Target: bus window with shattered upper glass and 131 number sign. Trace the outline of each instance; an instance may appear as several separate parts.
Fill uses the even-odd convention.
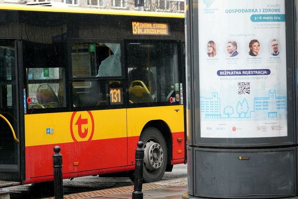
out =
[[[120,55],[120,43],[72,43],[74,107],[123,104],[122,80],[107,79],[121,76]]]

